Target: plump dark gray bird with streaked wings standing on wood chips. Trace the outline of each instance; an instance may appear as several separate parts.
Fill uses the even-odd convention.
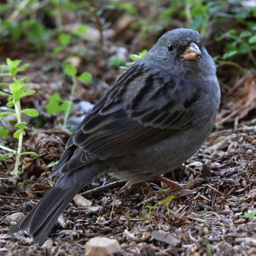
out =
[[[29,230],[42,244],[69,201],[104,173],[138,182],[180,166],[210,134],[219,100],[198,32],[168,31],[83,119],[53,171],[59,180],[9,234]]]

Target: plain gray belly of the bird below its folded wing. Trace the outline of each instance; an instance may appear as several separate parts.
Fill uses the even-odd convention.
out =
[[[202,146],[211,127],[194,127],[166,140],[116,158],[111,165],[113,175],[131,181],[146,181],[182,165]],[[113,159],[112,159],[113,160]]]

